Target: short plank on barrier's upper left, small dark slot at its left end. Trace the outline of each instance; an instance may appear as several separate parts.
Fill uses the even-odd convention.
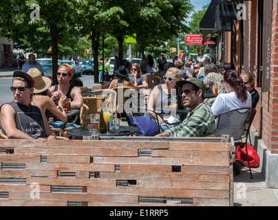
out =
[[[47,155],[47,163],[89,164],[89,156],[77,155]]]

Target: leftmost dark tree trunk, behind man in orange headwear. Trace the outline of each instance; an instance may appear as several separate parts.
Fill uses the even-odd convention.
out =
[[[52,43],[52,78],[53,85],[58,83],[56,72],[58,70],[58,30],[56,24],[52,24],[50,28],[51,43]]]

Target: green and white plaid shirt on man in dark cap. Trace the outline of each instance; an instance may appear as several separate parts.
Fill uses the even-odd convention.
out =
[[[215,118],[205,102],[191,111],[178,126],[166,130],[170,137],[204,137],[215,131]]]

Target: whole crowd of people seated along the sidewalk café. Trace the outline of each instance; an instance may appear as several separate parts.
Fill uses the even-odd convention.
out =
[[[71,83],[74,71],[70,65],[58,67],[58,84],[51,85],[51,80],[43,76],[31,56],[29,60],[28,68],[23,65],[22,71],[13,74],[13,100],[1,106],[1,130],[8,138],[55,139],[52,128],[61,129],[67,123],[64,109],[66,98],[70,98],[72,109],[83,106],[81,89]],[[100,66],[105,62],[107,67],[108,62],[103,58],[99,58],[98,62]],[[149,88],[146,78],[142,76],[157,72],[162,72],[163,77],[159,84]],[[100,69],[99,77],[103,78],[103,69]],[[253,74],[239,74],[227,63],[215,65],[202,49],[198,50],[196,62],[184,57],[173,57],[171,62],[167,62],[164,54],[160,54],[155,62],[151,54],[140,64],[124,61],[121,65],[118,61],[113,80],[103,85],[103,88],[112,89],[118,85],[144,89],[143,94],[148,96],[146,105],[149,115],[155,118],[153,112],[159,113],[162,132],[157,136],[209,135],[215,131],[217,115],[231,109],[255,108],[259,101]],[[207,92],[215,93],[216,97],[204,98]],[[190,110],[180,122],[163,109],[175,103],[178,95],[182,98],[182,107]],[[47,111],[54,115],[52,122],[47,122]]]

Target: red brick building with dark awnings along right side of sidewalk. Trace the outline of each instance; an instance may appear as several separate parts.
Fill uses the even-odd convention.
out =
[[[200,32],[205,41],[215,41],[217,64],[232,63],[237,72],[255,76],[260,100],[251,137],[266,184],[277,188],[278,0],[212,0]]]

